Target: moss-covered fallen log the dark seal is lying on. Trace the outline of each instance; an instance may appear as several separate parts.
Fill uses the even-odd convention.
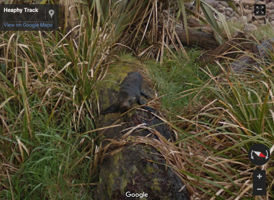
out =
[[[108,70],[105,80],[110,82],[98,84],[96,87],[97,93],[100,94],[97,104],[100,110],[116,101],[119,83],[128,72],[135,70],[138,69],[121,65]],[[142,83],[142,90],[151,97],[154,96],[146,81]],[[148,102],[148,99],[143,96],[142,98]],[[94,112],[98,116],[98,110]],[[127,192],[127,195],[147,194],[143,199],[150,200],[190,199],[183,180],[169,167],[166,168],[166,160],[160,151],[149,143],[149,139],[172,139],[169,127],[163,121],[144,109],[136,108],[121,116],[120,113],[100,115],[95,121],[96,128],[112,126],[101,131],[98,137],[100,149],[105,149],[105,152],[99,150],[96,155],[104,154],[98,164],[99,181],[94,194],[95,200],[140,199],[127,197]],[[148,142],[138,143],[140,137],[147,137]]]

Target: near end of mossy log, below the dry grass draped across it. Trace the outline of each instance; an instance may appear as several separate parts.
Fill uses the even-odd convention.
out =
[[[151,146],[126,146],[106,159],[100,166],[100,181],[94,199],[139,199],[127,197],[129,191],[131,194],[145,193],[147,197],[143,199],[149,200],[189,200],[186,188],[178,192],[183,187],[182,181],[170,168],[165,170],[158,153]]]

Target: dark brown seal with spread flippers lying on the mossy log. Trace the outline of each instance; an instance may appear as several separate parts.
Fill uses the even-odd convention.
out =
[[[103,110],[101,114],[105,115],[108,113],[117,113],[119,111],[124,113],[131,109],[134,103],[138,103],[139,105],[146,104],[141,99],[141,94],[146,97],[149,96],[141,91],[142,81],[143,78],[139,72],[129,72],[126,78],[121,82],[117,103]],[[150,107],[144,106],[144,108],[152,112]]]

